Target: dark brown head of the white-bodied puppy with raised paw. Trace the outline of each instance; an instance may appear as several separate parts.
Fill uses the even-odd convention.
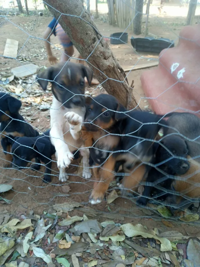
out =
[[[52,66],[37,75],[38,83],[46,90],[48,81],[52,93],[66,108],[84,106],[85,79],[91,85],[93,71],[82,64],[63,62]]]

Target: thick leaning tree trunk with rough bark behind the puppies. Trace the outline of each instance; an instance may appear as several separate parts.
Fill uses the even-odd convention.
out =
[[[81,1],[46,0],[46,3],[56,19],[59,18],[60,13],[69,14],[69,16],[59,18],[61,27],[70,37],[81,56],[88,58],[89,66],[107,93],[115,96],[121,104],[126,106],[130,87],[125,82],[125,73],[90,15],[87,11],[83,11]],[[81,15],[83,19],[79,18],[81,12],[83,12]],[[137,102],[133,94],[131,98],[131,108],[134,108],[137,106]]]

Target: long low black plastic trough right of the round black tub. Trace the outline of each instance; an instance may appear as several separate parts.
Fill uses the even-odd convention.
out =
[[[155,39],[153,37],[131,37],[131,45],[137,51],[160,53],[165,48],[174,47],[174,41],[167,38]]]

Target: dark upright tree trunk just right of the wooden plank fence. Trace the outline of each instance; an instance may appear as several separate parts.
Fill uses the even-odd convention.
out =
[[[144,0],[135,0],[135,19],[133,21],[133,32],[136,35],[142,32],[142,13]]]

